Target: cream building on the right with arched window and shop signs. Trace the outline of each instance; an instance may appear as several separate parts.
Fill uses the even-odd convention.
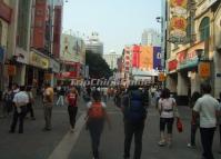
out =
[[[175,1],[174,1],[175,3]],[[172,36],[173,30],[168,30],[167,38],[167,87],[177,93],[178,102],[188,105],[189,98],[194,91],[200,91],[200,83],[209,81],[212,86],[212,95],[218,98],[220,88],[220,60],[219,58],[219,22],[215,17],[220,10],[219,0],[182,0],[184,6],[183,19],[179,29],[183,29],[185,36],[178,38]],[[180,3],[179,3],[180,4]],[[168,28],[174,24],[175,4],[169,4]],[[217,19],[219,21],[219,18]],[[217,28],[217,30],[215,30]],[[180,36],[180,34],[179,34]],[[217,38],[215,38],[217,37]],[[215,49],[217,48],[217,49]],[[203,68],[203,70],[202,70]]]

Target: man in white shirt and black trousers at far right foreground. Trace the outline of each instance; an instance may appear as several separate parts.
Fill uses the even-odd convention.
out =
[[[217,127],[217,117],[219,113],[219,102],[211,92],[211,86],[207,82],[201,85],[202,97],[199,98],[193,107],[193,116],[200,117],[200,133],[203,147],[203,158],[214,159],[212,155],[212,142]]]

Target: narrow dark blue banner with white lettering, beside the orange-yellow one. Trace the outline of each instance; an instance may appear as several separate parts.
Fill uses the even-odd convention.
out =
[[[153,69],[162,70],[161,64],[161,47],[153,47]]]

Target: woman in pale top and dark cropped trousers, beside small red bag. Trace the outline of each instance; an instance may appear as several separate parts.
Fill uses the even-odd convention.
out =
[[[160,147],[168,145],[172,146],[172,127],[174,118],[179,119],[177,102],[174,98],[170,97],[170,90],[164,88],[161,92],[161,97],[158,102],[158,109],[160,113]],[[168,136],[165,139],[165,127],[168,129]]]

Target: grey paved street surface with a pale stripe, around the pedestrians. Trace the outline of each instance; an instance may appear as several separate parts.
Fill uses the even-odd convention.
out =
[[[113,128],[111,131],[104,129],[101,141],[101,157],[102,159],[122,159],[122,115],[112,102],[109,102],[108,106]],[[184,123],[184,132],[178,133],[174,129],[173,147],[171,149],[158,147],[159,116],[154,108],[149,109],[143,135],[142,159],[200,159],[199,132],[197,149],[187,148],[190,133],[190,111],[187,107],[180,107],[179,109]],[[44,120],[40,100],[34,107],[37,120],[26,119],[23,135],[8,133],[11,118],[0,119],[0,159],[91,159],[89,132],[84,129],[84,103],[81,101],[74,133],[69,132],[67,107],[54,107],[52,131],[41,131]],[[215,159],[220,159],[217,133],[213,151]]]

